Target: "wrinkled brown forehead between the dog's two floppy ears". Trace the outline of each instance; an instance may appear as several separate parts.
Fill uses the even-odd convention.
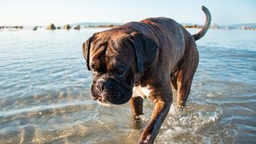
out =
[[[98,71],[108,71],[113,66],[127,64],[129,48],[127,34],[102,32],[94,36],[90,45],[90,67]],[[131,58],[130,58],[131,59]]]

